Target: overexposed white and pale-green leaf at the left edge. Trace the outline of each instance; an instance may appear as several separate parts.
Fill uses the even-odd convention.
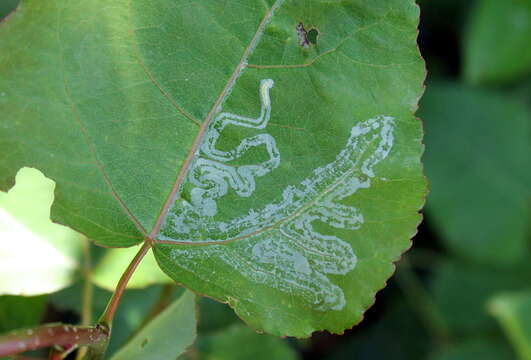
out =
[[[60,290],[77,275],[83,238],[50,221],[53,181],[23,168],[16,182],[0,193],[0,294]]]

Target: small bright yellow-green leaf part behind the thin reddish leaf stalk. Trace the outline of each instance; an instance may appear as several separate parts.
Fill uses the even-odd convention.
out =
[[[137,252],[138,246],[127,249],[107,250],[105,255],[103,255],[94,267],[91,280],[99,287],[114,291],[118,280],[120,280],[120,276]],[[153,257],[153,253],[149,252],[133,273],[133,276],[127,283],[127,288],[140,289],[149,285],[167,283],[173,283],[173,280],[160,270]]]

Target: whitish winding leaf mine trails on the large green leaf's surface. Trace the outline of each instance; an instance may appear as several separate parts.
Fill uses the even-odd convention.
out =
[[[211,281],[208,272],[198,274],[194,265],[215,258],[253,282],[303,298],[315,309],[341,310],[345,306],[343,291],[326,274],[348,273],[356,266],[356,255],[350,244],[316,228],[319,223],[348,230],[362,226],[360,211],[340,201],[370,187],[374,166],[393,146],[394,118],[380,115],[356,124],[333,162],[315,169],[300,184],[286,187],[280,199],[228,221],[216,220],[218,199],[230,190],[251,196],[255,179],[280,164],[279,150],[269,134],[245,138],[231,151],[216,148],[228,124],[254,129],[267,126],[272,86],[271,79],[260,84],[258,118],[230,113],[215,118],[187,175],[192,184],[191,201],[182,197],[175,201],[158,238],[181,244],[208,243],[175,246],[171,251],[180,267],[205,281]],[[267,149],[267,161],[239,167],[226,164],[260,145]]]

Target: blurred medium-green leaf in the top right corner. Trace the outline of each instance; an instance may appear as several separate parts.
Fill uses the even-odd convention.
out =
[[[502,83],[531,72],[531,1],[479,0],[465,36],[465,77]]]

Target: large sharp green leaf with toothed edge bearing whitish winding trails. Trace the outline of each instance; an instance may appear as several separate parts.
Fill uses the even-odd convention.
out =
[[[38,167],[54,220],[106,246],[152,238],[168,275],[257,329],[341,333],[420,221],[418,16],[26,0],[0,27],[0,188]]]

